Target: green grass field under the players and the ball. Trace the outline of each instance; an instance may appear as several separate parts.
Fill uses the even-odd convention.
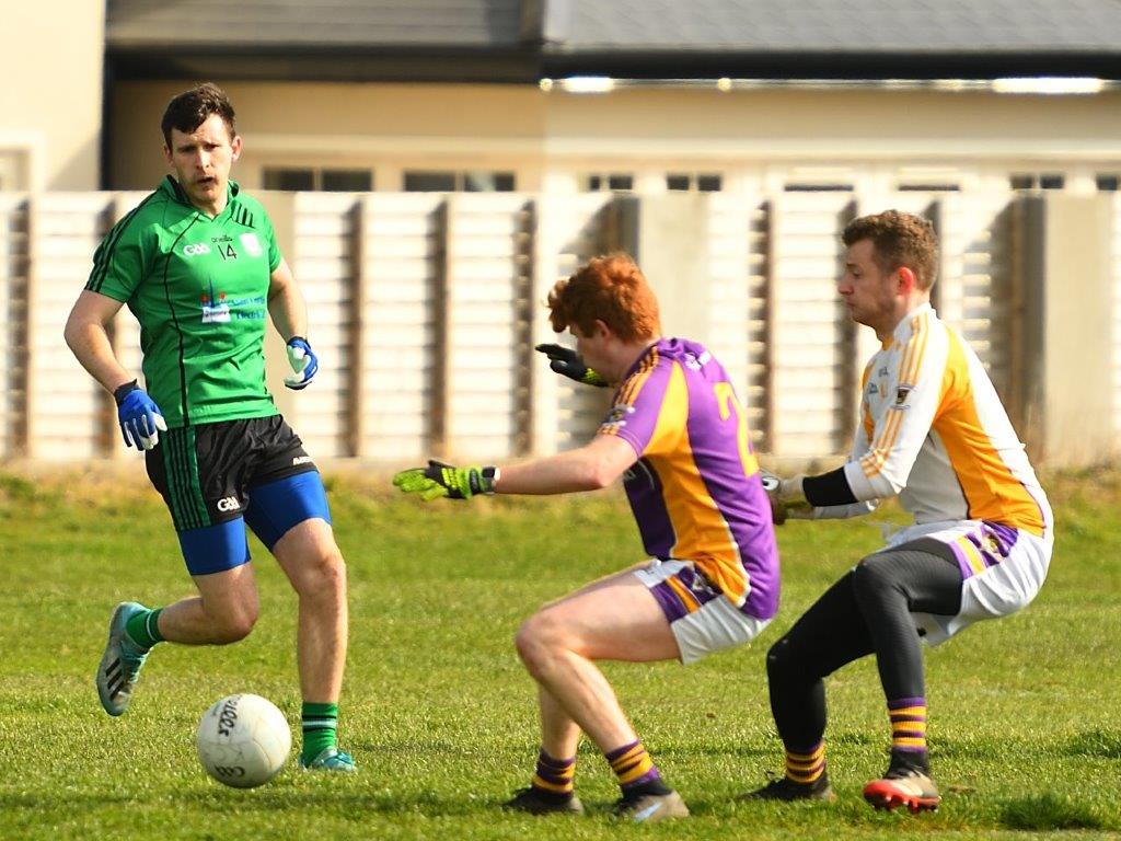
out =
[[[608,665],[624,708],[694,816],[631,826],[606,814],[610,771],[584,746],[585,819],[509,815],[537,750],[535,692],[511,644],[543,601],[641,560],[617,491],[421,506],[330,482],[350,566],[343,745],[361,773],[293,767],[256,791],[212,783],[198,717],[257,692],[298,726],[295,601],[253,544],[261,617],[228,648],[161,646],[132,709],[110,719],[92,676],[112,607],[186,594],[168,518],[140,481],[0,474],[0,838],[1011,838],[1121,832],[1121,478],[1051,477],[1058,546],[1039,599],[929,653],[937,813],[876,813],[886,765],[871,660],[828,682],[835,804],[733,801],[780,764],[763,657],[879,532],[860,521],[780,529],[782,607],[758,644],[696,666]],[[378,486],[385,487],[385,486]],[[373,489],[371,489],[373,488]],[[898,519],[898,514],[895,515]],[[1062,834],[1067,834],[1062,832]]]

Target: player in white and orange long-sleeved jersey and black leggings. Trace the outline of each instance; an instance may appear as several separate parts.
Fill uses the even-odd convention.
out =
[[[862,558],[771,647],[771,708],[787,774],[753,796],[832,796],[822,678],[874,654],[891,763],[864,796],[877,807],[935,808],[919,637],[936,645],[1028,604],[1047,575],[1054,523],[981,361],[930,307],[937,240],[929,223],[887,211],[854,220],[843,240],[837,292],[881,349],[864,369],[849,460],[821,475],[776,478],[772,512],[776,523],[853,517],[898,495],[915,523]]]

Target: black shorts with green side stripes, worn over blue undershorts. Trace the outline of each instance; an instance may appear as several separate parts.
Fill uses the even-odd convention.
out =
[[[316,469],[280,415],[168,429],[145,463],[176,532],[237,519],[253,488]]]

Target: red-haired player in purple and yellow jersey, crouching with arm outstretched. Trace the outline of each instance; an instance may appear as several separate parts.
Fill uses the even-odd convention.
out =
[[[539,345],[555,371],[615,386],[614,406],[584,446],[518,464],[429,462],[393,478],[423,499],[568,493],[623,478],[648,555],[638,567],[549,602],[518,630],[537,681],[541,750],[530,785],[507,806],[582,812],[581,734],[614,770],[615,812],[638,822],[684,817],[599,660],[692,663],[754,639],[778,606],[771,505],[724,369],[700,344],[663,339],[658,301],[634,262],[600,257],[549,294],[549,321],[576,349]]]

